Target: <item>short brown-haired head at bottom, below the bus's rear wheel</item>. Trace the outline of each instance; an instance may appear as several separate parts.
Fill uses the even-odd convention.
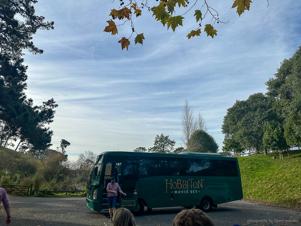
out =
[[[214,226],[209,216],[200,209],[184,209],[172,222],[173,226]]]

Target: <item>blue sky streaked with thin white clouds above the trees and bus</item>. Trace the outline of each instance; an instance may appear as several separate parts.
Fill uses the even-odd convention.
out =
[[[214,24],[218,32],[213,39],[203,32],[209,17],[201,36],[186,37],[198,26],[193,10],[203,5],[199,0],[175,33],[144,8],[133,18],[135,31],[144,33],[143,46],[135,45],[133,36],[128,51],[121,50],[118,40],[131,35],[129,22],[118,26],[115,36],[103,32],[119,1],[35,4],[37,15],[54,21],[54,30],[38,30],[33,36],[43,54],[24,51],[26,95],[36,105],[51,98],[59,105],[49,125],[54,132],[51,148],[65,139],[71,143],[69,159],[76,160],[88,150],[149,148],[161,133],[176,141],[175,148],[184,146],[181,114],[188,99],[221,151],[227,108],[253,93],[265,93],[265,82],[301,44],[301,2],[270,0],[267,7],[267,1],[254,0],[240,17],[231,0],[206,2],[220,20],[229,20]]]

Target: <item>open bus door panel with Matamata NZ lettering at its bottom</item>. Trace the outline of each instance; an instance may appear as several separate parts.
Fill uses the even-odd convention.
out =
[[[138,207],[138,163],[121,164],[120,175],[121,190],[126,196],[121,196],[121,206],[129,210],[137,210]]]

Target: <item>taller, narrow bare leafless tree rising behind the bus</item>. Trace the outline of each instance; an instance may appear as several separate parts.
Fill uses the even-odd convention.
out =
[[[193,119],[193,112],[190,109],[190,105],[188,100],[185,100],[185,105],[182,109],[182,137],[181,140],[184,143],[186,150],[190,151],[190,137],[194,132],[194,119]]]

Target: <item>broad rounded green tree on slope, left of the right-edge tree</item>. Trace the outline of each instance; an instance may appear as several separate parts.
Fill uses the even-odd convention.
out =
[[[267,121],[276,118],[272,106],[273,99],[262,93],[255,93],[245,101],[236,101],[224,117],[222,133],[225,139],[234,139],[244,149],[262,150],[264,127]]]

